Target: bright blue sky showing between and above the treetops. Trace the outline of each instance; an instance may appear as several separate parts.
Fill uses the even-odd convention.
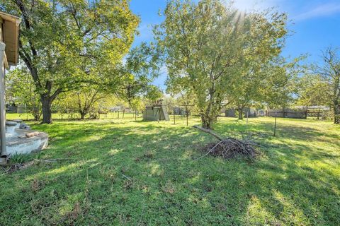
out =
[[[235,0],[234,5],[243,11],[275,7],[288,13],[292,20],[288,28],[293,32],[283,49],[285,57],[309,54],[307,62],[317,63],[322,49],[340,47],[340,0]],[[166,0],[131,0],[132,11],[141,18],[135,44],[152,39],[150,25],[162,22],[158,12],[165,6]],[[165,79],[163,73],[154,84],[164,89]]]

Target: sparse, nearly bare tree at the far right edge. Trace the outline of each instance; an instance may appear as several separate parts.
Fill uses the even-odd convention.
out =
[[[315,73],[327,83],[327,95],[334,112],[334,124],[340,124],[340,58],[339,49],[329,47],[322,54],[323,64],[315,67]]]

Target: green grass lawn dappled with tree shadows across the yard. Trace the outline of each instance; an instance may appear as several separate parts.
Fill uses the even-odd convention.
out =
[[[198,124],[191,119],[189,124]],[[208,134],[132,119],[32,124],[37,164],[0,170],[0,225],[340,225],[340,126],[278,119],[254,162],[200,157]],[[272,133],[273,118],[219,118],[217,133]]]

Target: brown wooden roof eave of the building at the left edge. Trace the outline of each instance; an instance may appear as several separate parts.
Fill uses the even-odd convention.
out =
[[[21,18],[0,11],[0,18],[4,24],[4,39],[6,44],[6,59],[9,65],[18,64],[18,42],[19,42],[19,24]]]

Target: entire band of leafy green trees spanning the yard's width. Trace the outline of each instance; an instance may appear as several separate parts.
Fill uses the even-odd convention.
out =
[[[224,107],[327,105],[339,124],[340,60],[329,48],[318,65],[286,59],[287,15],[244,13],[222,0],[171,0],[152,43],[132,48],[140,19],[127,0],[8,0],[2,11],[21,16],[21,66],[7,76],[7,93],[29,103],[42,123],[52,104],[77,106],[81,119],[99,102],[142,108],[162,93],[152,85],[166,66],[166,92],[195,105],[212,129]],[[112,102],[112,101],[111,101]],[[115,101],[117,102],[117,101]],[[190,104],[189,104],[190,103]],[[307,114],[307,113],[306,113]]]

